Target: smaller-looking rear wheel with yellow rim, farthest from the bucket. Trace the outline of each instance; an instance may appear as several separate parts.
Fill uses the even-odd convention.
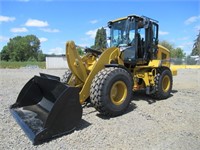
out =
[[[160,68],[157,72],[154,79],[156,91],[151,96],[158,100],[166,99],[172,91],[172,73],[168,68]]]

